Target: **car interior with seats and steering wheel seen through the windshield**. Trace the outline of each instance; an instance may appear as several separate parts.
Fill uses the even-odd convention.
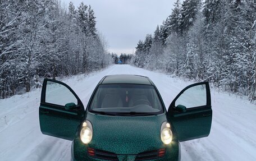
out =
[[[161,111],[156,91],[150,85],[100,85],[91,103],[92,109],[122,108],[149,112]],[[154,110],[154,109],[157,109]],[[102,110],[100,110],[102,111]]]

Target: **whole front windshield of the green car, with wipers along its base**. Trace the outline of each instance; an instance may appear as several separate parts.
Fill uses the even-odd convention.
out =
[[[152,85],[102,84],[90,104],[90,112],[115,115],[151,115],[163,112]]]

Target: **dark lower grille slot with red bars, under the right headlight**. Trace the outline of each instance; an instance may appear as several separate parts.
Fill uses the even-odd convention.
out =
[[[158,149],[152,151],[145,151],[136,155],[136,160],[150,160],[164,157],[166,149]]]

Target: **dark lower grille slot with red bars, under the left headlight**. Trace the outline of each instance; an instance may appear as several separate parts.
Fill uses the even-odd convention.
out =
[[[99,150],[94,148],[87,148],[87,154],[93,158],[118,161],[117,155],[109,151],[104,151],[104,150]]]

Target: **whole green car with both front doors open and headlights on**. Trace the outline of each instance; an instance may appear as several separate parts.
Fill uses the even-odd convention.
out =
[[[206,137],[212,107],[208,82],[183,89],[168,111],[153,82],[104,76],[86,108],[68,85],[44,79],[43,134],[71,140],[71,160],[180,160],[180,142]]]

